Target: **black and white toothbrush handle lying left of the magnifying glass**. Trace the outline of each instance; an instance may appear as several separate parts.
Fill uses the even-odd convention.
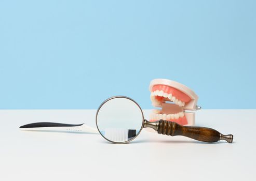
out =
[[[22,131],[64,131],[64,132],[81,132],[81,133],[94,133],[99,134],[99,131],[95,128],[83,124],[63,124],[63,123],[51,123],[51,122],[39,122],[31,123],[20,126]]]

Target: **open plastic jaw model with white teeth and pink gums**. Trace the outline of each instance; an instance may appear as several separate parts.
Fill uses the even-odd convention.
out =
[[[155,109],[150,121],[164,119],[180,125],[195,125],[195,113],[186,110],[199,110],[198,96],[187,86],[168,79],[154,79],[150,82],[150,98]]]

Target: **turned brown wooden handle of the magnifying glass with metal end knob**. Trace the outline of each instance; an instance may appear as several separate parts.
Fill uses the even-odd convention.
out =
[[[219,131],[205,127],[182,126],[175,122],[167,120],[159,120],[158,130],[159,134],[166,135],[183,135],[184,137],[192,138],[194,140],[204,142],[217,142],[219,140],[226,140],[232,143],[233,135],[223,135]]]

